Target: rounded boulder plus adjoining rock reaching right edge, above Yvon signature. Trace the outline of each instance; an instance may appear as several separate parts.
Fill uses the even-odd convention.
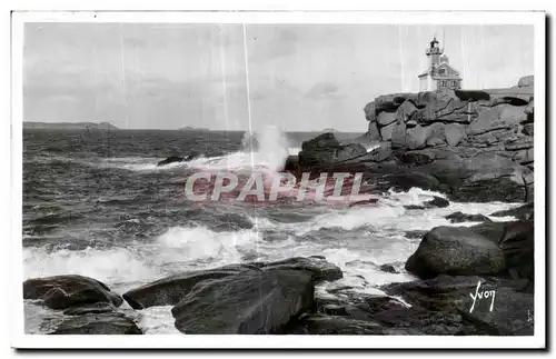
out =
[[[465,216],[456,212],[448,218],[467,219]],[[473,219],[486,218],[479,216]],[[439,275],[498,276],[523,280],[524,287],[532,288],[534,247],[532,219],[486,221],[473,227],[436,227],[423,236],[419,247],[406,262],[406,270],[424,279]]]

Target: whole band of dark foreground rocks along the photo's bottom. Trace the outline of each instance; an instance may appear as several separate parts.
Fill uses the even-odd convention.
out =
[[[513,213],[523,219],[426,232],[405,265],[417,279],[381,286],[383,296],[317,291],[344,275],[314,256],[189,271],[121,296],[82,276],[29,279],[23,298],[63,313],[51,335],[140,335],[133,309],[172,306],[176,328],[188,335],[530,336],[533,208]],[[119,308],[123,301],[133,309]]]

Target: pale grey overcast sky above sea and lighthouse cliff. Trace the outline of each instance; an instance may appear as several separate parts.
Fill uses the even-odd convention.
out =
[[[252,128],[364,132],[379,94],[418,91],[433,36],[464,88],[534,73],[533,26],[247,26]],[[24,121],[249,128],[239,24],[27,23]]]

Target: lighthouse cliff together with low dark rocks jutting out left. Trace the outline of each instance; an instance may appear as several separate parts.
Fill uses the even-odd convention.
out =
[[[438,190],[458,201],[530,201],[532,83],[527,77],[507,89],[380,96],[365,107],[369,127],[360,139],[378,142],[375,149],[325,133],[304,142],[286,170],[364,171],[374,183]]]

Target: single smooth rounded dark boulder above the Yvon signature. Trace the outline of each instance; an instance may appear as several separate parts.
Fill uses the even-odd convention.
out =
[[[497,275],[505,269],[502,249],[465,227],[434,228],[406,262],[406,270],[420,278]]]

